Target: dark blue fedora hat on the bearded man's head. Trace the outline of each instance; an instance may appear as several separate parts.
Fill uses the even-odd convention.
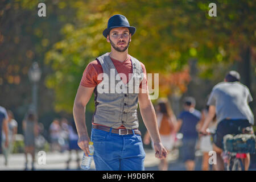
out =
[[[106,28],[103,31],[103,35],[105,36],[105,38],[107,37],[107,35],[109,34],[109,32],[112,28],[118,28],[118,27],[127,27],[127,28],[129,28],[131,35],[133,35],[136,31],[135,27],[130,26],[130,24],[129,24],[129,22],[128,22],[128,20],[125,16],[123,16],[123,15],[114,15],[114,16],[111,16],[109,18],[108,28]]]

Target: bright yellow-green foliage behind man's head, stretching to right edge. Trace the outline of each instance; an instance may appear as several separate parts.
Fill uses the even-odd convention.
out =
[[[47,53],[55,70],[47,86],[56,92],[56,109],[71,112],[76,89],[86,65],[110,51],[102,31],[114,14],[123,14],[137,32],[129,53],[141,60],[148,73],[163,77],[186,75],[188,60],[196,58],[200,75],[214,78],[217,65],[243,60],[241,47],[255,47],[255,3],[215,1],[217,17],[208,15],[211,1],[76,1],[76,21],[61,30],[64,39]],[[64,2],[63,2],[64,3]],[[177,73],[176,73],[177,72]],[[179,75],[179,74],[178,74]],[[168,78],[166,79],[168,81]],[[170,80],[170,79],[169,79]],[[184,77],[184,80],[189,80]],[[186,85],[186,81],[181,83]],[[172,82],[167,82],[172,85]],[[179,85],[179,84],[178,84]],[[170,88],[172,88],[171,86]],[[163,90],[171,90],[168,88]],[[181,86],[184,89],[184,85]]]

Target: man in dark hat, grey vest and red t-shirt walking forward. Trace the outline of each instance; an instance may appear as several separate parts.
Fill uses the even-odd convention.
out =
[[[154,142],[155,156],[164,159],[167,151],[160,142],[156,114],[150,101],[144,65],[128,54],[131,27],[123,15],[114,15],[103,32],[111,52],[97,57],[86,67],[77,90],[73,115],[79,147],[89,154],[90,138],[85,125],[85,107],[94,93],[92,118],[96,170],[144,170],[145,152],[138,130],[139,108]]]

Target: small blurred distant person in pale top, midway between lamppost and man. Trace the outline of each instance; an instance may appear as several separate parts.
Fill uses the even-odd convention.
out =
[[[60,121],[59,119],[55,118],[51,125],[49,126],[49,134],[51,138],[51,151],[59,151],[59,137],[60,137]]]

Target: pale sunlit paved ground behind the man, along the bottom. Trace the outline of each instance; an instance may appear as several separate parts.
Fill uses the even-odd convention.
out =
[[[145,149],[146,152],[146,158],[144,161],[144,166],[146,171],[158,171],[158,164],[159,160],[155,158],[155,152],[153,150],[148,150]],[[38,153],[37,153],[38,154]],[[185,165],[184,163],[180,162],[178,160],[178,155],[179,152],[177,150],[171,152],[168,155],[168,163],[169,171],[184,171],[185,170]],[[79,152],[80,159],[82,158],[82,151]],[[63,153],[60,152],[48,152],[46,153],[46,164],[39,164],[39,155],[37,156],[36,163],[35,163],[35,168],[36,170],[67,170],[67,164],[66,161],[69,158],[69,152],[65,151]],[[81,170],[77,168],[77,163],[76,163],[76,153],[72,152],[72,162],[69,164],[69,170]],[[255,160],[255,159],[253,159]],[[28,157],[28,161],[31,162],[31,157]],[[4,165],[4,158],[3,155],[0,155],[0,171],[5,171],[5,170],[23,170],[24,169],[24,163],[25,163],[25,158],[24,154],[12,154],[10,155],[9,158],[9,164],[7,166]],[[196,171],[201,170],[201,155],[200,152],[196,155]],[[81,163],[81,160],[80,160]],[[28,168],[31,168],[30,163],[28,163]],[[91,170],[95,170],[95,165],[94,162],[92,162],[92,168]],[[256,171],[256,165],[254,163],[254,166],[250,167],[251,171]]]

